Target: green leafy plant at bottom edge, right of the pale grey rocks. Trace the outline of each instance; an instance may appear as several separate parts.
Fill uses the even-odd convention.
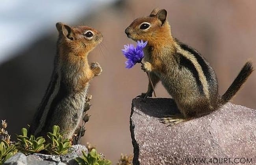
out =
[[[95,149],[92,149],[89,154],[86,154],[84,151],[82,152],[82,157],[75,158],[79,165],[111,165],[111,161],[102,158]]]

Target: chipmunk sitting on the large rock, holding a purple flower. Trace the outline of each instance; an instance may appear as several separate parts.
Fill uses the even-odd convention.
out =
[[[215,111],[237,93],[253,71],[252,63],[245,63],[228,90],[219,96],[213,68],[197,50],[172,36],[165,9],[156,8],[149,16],[135,19],[125,33],[134,41],[148,41],[141,69],[150,74],[154,86],[161,80],[180,111],[160,119],[169,126]],[[148,91],[140,97],[151,96],[148,84]]]

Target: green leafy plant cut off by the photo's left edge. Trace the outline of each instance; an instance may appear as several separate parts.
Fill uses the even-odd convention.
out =
[[[14,154],[16,154],[17,149],[15,145],[8,144],[5,140],[1,140],[0,142],[0,164],[4,163],[7,159],[11,158]]]

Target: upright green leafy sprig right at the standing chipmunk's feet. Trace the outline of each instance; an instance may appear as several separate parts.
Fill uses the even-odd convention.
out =
[[[69,139],[63,139],[63,133],[59,132],[59,126],[52,127],[52,133],[48,132],[47,137],[49,138],[49,144],[46,148],[46,151],[49,154],[54,155],[64,155],[69,152],[71,148],[71,143]]]

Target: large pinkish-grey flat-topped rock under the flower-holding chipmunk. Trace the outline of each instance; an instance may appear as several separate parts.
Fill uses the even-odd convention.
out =
[[[256,110],[227,103],[217,111],[167,127],[177,112],[169,98],[135,98],[130,131],[133,164],[256,163]]]

